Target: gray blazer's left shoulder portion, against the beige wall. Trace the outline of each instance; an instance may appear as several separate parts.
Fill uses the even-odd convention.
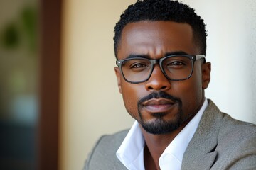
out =
[[[85,170],[126,169],[117,159],[116,152],[128,131],[122,130],[113,135],[103,135],[100,137],[85,162]]]

